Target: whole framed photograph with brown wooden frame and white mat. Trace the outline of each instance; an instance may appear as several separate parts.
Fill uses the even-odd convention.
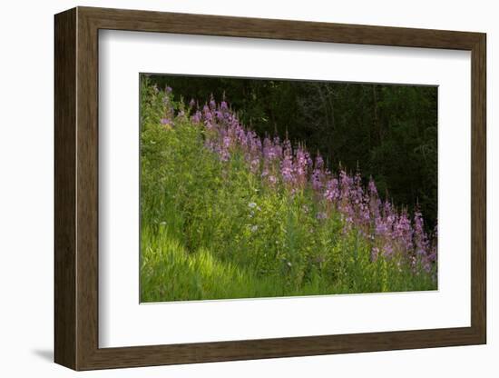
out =
[[[486,343],[484,34],[54,23],[56,363]]]

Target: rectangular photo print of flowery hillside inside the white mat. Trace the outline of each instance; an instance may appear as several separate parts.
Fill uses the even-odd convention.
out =
[[[141,302],[436,290],[437,89],[141,74]]]

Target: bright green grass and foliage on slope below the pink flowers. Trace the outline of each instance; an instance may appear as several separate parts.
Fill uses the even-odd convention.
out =
[[[311,190],[269,188],[237,151],[220,162],[205,129],[174,116],[182,104],[141,95],[142,302],[435,289],[400,259],[371,262],[339,214],[317,219],[327,209]]]

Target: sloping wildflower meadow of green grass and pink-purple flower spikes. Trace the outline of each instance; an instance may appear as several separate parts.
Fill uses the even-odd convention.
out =
[[[437,288],[417,204],[393,204],[362,164],[257,134],[224,98],[174,92],[142,77],[142,302]]]

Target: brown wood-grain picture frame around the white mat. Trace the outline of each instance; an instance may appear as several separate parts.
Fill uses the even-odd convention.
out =
[[[486,343],[485,35],[77,7],[55,15],[54,360],[74,370]],[[98,32],[222,35],[471,51],[471,326],[183,343],[98,344]]]

